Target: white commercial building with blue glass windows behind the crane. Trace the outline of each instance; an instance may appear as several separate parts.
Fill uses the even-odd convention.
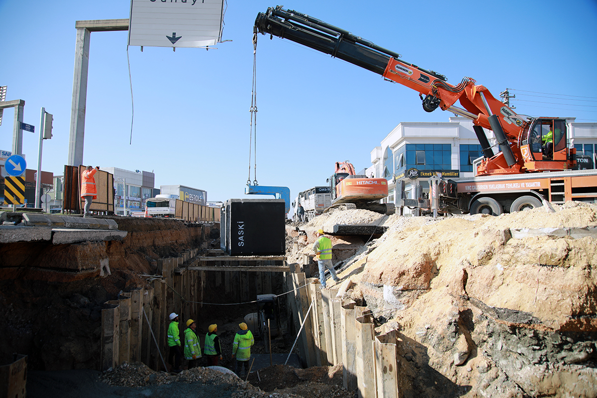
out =
[[[569,145],[580,155],[590,155],[595,165],[597,153],[597,123],[576,123],[566,118]],[[485,134],[497,153],[493,132]],[[475,175],[475,159],[482,156],[481,145],[467,118],[451,117],[448,122],[401,122],[371,151],[372,166],[368,177],[388,180],[389,195],[384,202],[396,203],[396,192],[404,181],[406,198],[416,198],[416,192],[429,192],[428,178],[435,172],[457,180]],[[405,209],[409,214],[410,209]]]

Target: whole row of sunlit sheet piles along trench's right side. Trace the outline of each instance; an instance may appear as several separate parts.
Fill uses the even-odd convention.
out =
[[[291,264],[285,276],[286,288],[294,290],[288,309],[295,332],[304,321],[297,344],[303,366],[341,363],[347,390],[361,398],[398,397],[396,332],[376,336],[367,307],[336,298],[338,289],[321,289],[315,278],[305,278],[303,266]]]

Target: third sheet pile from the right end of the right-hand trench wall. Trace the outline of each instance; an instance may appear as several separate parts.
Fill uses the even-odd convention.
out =
[[[344,388],[356,390],[356,336],[355,336],[355,302],[342,301],[341,330],[342,338],[342,377]]]

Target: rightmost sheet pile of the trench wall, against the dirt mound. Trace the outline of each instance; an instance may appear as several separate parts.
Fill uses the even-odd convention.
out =
[[[378,335],[373,341],[376,363],[377,395],[398,398],[396,331]]]

